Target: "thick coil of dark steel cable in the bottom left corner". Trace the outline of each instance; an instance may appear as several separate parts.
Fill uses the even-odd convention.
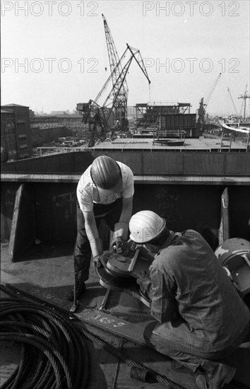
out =
[[[22,344],[20,364],[1,389],[87,387],[85,337],[68,318],[47,306],[12,298],[1,299],[0,315],[1,341]]]

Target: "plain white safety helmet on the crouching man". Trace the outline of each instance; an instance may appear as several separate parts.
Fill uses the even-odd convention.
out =
[[[158,236],[165,228],[166,221],[153,211],[140,211],[129,221],[129,231],[136,243],[147,243]]]

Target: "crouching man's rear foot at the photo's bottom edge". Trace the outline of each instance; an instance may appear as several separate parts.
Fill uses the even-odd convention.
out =
[[[204,361],[201,364],[204,375],[196,378],[196,385],[201,389],[220,389],[225,383],[230,383],[236,369],[217,361]]]

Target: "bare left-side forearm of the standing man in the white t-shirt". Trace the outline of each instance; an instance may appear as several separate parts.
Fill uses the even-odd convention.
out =
[[[102,255],[102,240],[99,238],[95,215],[93,211],[83,211],[83,216],[85,219],[85,231],[90,242],[93,258],[95,258]]]

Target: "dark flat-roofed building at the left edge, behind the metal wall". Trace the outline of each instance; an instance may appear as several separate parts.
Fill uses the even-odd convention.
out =
[[[32,156],[29,107],[1,105],[1,144],[8,151],[9,159]]]

